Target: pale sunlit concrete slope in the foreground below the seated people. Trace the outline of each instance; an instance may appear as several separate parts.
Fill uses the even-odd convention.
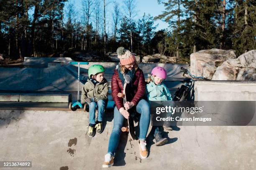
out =
[[[0,110],[0,160],[32,161],[30,170],[102,169],[113,112],[105,114],[105,130],[93,138],[85,134],[87,117],[82,111]],[[165,132],[168,144],[160,147],[148,133],[147,159],[141,160],[137,141],[123,133],[111,169],[256,169],[253,126],[180,126]]]

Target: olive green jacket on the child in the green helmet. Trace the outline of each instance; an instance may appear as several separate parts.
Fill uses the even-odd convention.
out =
[[[85,100],[92,97],[95,102],[98,100],[107,100],[108,98],[108,81],[104,78],[102,82],[93,84],[91,80],[87,80],[82,89],[81,103],[84,104]]]

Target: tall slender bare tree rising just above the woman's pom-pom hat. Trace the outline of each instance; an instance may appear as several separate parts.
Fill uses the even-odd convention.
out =
[[[128,19],[129,19],[129,24],[131,26],[133,22],[133,18],[136,16],[136,0],[125,0],[124,1],[125,8],[128,10]],[[131,52],[133,52],[133,36],[132,36],[132,30],[130,29],[130,38],[131,38]]]

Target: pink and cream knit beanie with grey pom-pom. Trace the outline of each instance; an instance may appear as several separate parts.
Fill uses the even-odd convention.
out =
[[[131,51],[126,50],[124,47],[119,47],[116,50],[121,65],[128,65],[133,63],[136,59]]]

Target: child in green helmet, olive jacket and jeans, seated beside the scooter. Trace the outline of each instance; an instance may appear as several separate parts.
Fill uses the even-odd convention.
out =
[[[88,79],[82,89],[81,103],[89,105],[88,136],[102,133],[102,119],[108,99],[108,81],[104,78],[105,68],[102,65],[91,65],[88,69]],[[95,110],[98,107],[98,117],[95,120]]]

